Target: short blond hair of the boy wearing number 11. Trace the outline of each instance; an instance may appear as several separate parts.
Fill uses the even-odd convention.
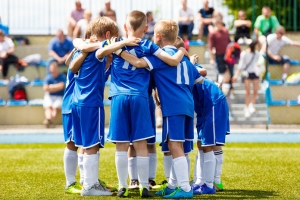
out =
[[[154,26],[156,34],[160,34],[164,41],[174,43],[178,35],[178,25],[174,20],[160,20]]]

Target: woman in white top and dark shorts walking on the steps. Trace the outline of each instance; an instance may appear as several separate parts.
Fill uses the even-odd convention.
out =
[[[261,54],[258,52],[258,48],[258,42],[253,41],[248,49],[242,51],[238,69],[232,78],[233,82],[236,82],[241,73],[244,76],[243,84],[246,91],[244,116],[246,118],[255,112],[254,104],[259,90],[260,74],[257,73],[259,71],[257,68],[262,66],[259,66]],[[251,84],[253,88],[252,98],[250,98]]]

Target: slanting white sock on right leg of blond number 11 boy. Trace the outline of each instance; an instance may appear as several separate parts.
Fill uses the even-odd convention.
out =
[[[173,159],[174,171],[177,178],[178,186],[185,192],[191,190],[188,176],[188,164],[185,156]]]

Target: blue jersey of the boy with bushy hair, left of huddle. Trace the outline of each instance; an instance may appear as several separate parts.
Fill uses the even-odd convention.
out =
[[[104,43],[102,45],[104,46]],[[99,60],[97,50],[89,53],[75,76],[73,101],[78,106],[103,107],[106,57]]]

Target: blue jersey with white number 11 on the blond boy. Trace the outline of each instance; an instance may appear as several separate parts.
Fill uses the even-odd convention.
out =
[[[174,46],[164,47],[163,50],[170,55],[178,51]],[[171,67],[155,56],[146,56],[144,59],[150,70],[153,70],[162,115],[188,115],[193,118],[192,90],[194,84],[203,79],[194,65],[185,57],[177,67]]]

